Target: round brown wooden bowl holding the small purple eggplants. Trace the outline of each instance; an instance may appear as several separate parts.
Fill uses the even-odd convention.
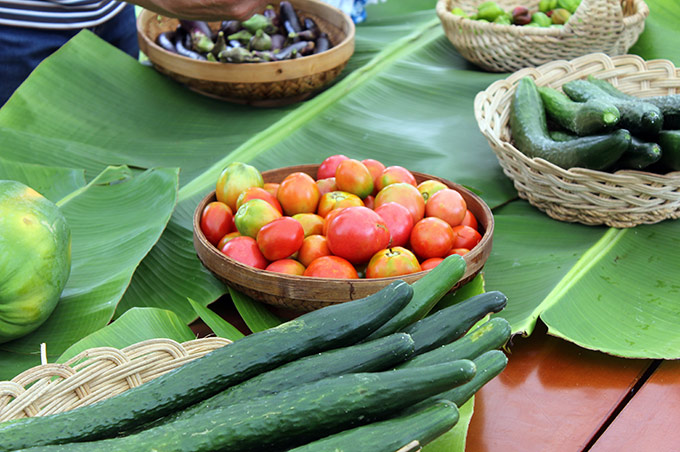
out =
[[[273,0],[278,6],[279,1]],[[196,61],[156,44],[164,31],[175,30],[178,19],[142,10],[137,18],[139,46],[161,73],[190,89],[218,99],[260,107],[304,100],[335,79],[354,53],[354,22],[337,8],[317,0],[292,0],[301,18],[314,19],[333,44],[329,50],[294,60],[268,63]],[[211,22],[217,30],[219,22]]]

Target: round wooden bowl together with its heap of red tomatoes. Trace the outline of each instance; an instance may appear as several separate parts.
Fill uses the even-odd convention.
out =
[[[338,195],[347,192],[338,190],[335,180],[328,180],[328,174],[334,174],[328,172],[329,167],[340,168],[333,157],[320,165],[264,171],[261,181],[252,167],[238,164],[250,171],[238,177],[250,178],[248,183],[256,185],[240,193],[229,192],[221,176],[216,191],[205,196],[194,212],[194,247],[203,265],[228,286],[294,311],[363,298],[398,279],[413,283],[448,254],[460,254],[466,263],[463,277],[452,290],[482,270],[491,252],[494,220],[480,197],[448,180],[398,166],[385,168],[378,162],[379,167],[371,169],[377,181],[371,194],[364,192],[363,198]],[[362,162],[367,161],[375,162]],[[345,166],[349,167],[348,178],[354,179],[357,168]],[[408,177],[401,171],[413,179],[392,183]],[[377,179],[383,172],[384,187]],[[316,199],[310,200],[300,188],[310,183],[319,190]],[[395,187],[386,190],[389,185]],[[437,195],[438,191],[442,194]],[[414,192],[421,201],[415,199]],[[458,225],[455,242],[449,242],[449,230],[454,227],[447,230],[445,220],[426,216],[428,211],[437,212],[437,201],[441,206],[462,202],[465,208],[465,224]],[[432,204],[426,211],[428,203]],[[403,220],[406,217],[410,217],[410,224],[408,219]],[[443,252],[442,247],[448,248]],[[394,268],[401,274],[385,276]]]

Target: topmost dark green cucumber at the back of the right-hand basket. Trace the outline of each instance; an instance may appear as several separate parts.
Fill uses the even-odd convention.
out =
[[[637,136],[655,136],[663,126],[663,115],[655,105],[622,93],[611,83],[590,77],[562,85],[562,91],[576,102],[600,99],[616,105],[621,112],[618,126]]]

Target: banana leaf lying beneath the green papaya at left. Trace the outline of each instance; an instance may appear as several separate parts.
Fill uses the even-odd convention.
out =
[[[10,379],[40,364],[41,343],[53,361],[111,320],[132,274],[170,218],[178,170],[110,167],[85,185],[82,172],[3,162],[0,178],[30,184],[48,177],[42,184],[54,184],[47,196],[64,213],[72,238],[71,275],[52,315],[34,332],[0,345],[0,379]]]

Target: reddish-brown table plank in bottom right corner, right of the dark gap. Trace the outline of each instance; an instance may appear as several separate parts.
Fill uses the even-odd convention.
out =
[[[680,450],[680,361],[664,361],[591,452]]]

